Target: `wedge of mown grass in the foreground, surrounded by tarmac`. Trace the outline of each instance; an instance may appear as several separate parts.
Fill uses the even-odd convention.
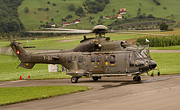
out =
[[[90,90],[84,86],[35,86],[35,87],[1,87],[0,105],[44,99],[75,92]]]

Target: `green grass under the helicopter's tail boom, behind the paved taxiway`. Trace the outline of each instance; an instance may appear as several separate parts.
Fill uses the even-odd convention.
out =
[[[33,69],[25,69],[21,67],[16,69],[20,64],[20,61],[18,61],[17,58],[0,55],[0,61],[0,81],[19,80],[20,76],[27,78],[28,75],[30,75],[32,79],[70,78],[70,76],[66,75],[65,72],[49,73],[47,64],[36,64]]]

